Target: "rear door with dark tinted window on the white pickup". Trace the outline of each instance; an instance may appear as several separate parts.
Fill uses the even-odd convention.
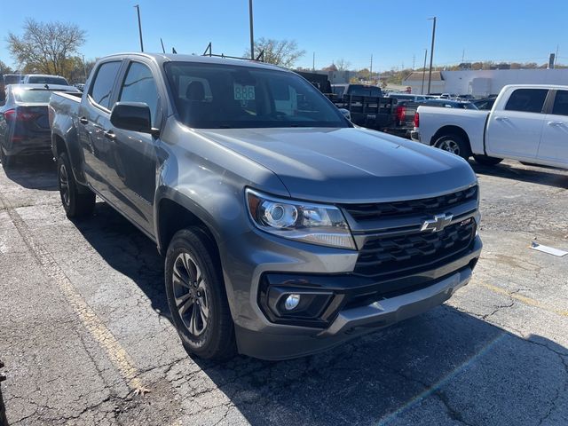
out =
[[[501,110],[489,115],[485,133],[487,154],[533,160],[540,144],[548,89],[515,89]]]

